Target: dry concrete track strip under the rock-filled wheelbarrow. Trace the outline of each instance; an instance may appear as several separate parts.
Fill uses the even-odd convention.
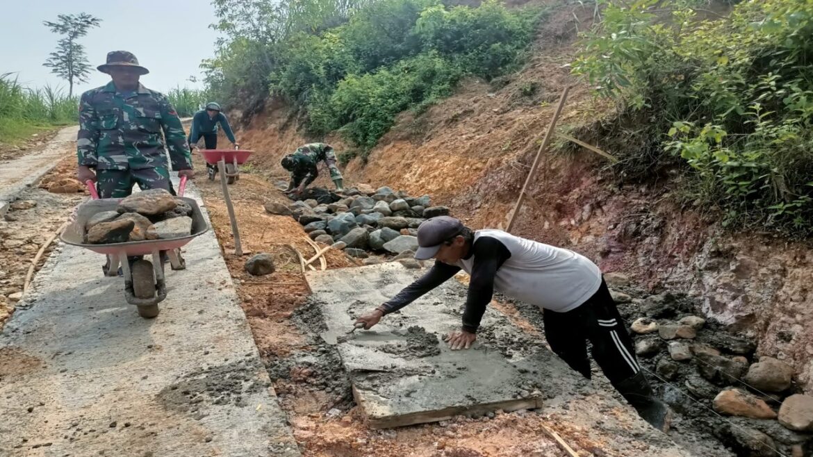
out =
[[[0,455],[299,455],[214,233],[185,259],[145,320],[59,246],[0,333]]]

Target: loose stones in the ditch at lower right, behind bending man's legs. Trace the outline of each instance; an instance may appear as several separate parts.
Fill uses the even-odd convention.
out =
[[[798,392],[788,363],[756,357],[752,342],[695,316],[691,298],[644,296],[623,275],[606,279],[639,297],[619,309],[641,367],[676,413],[737,455],[813,455],[813,396]]]

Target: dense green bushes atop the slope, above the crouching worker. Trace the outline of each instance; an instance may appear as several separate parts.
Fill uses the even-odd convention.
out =
[[[450,95],[463,76],[491,80],[510,72],[541,16],[537,9],[507,10],[495,0],[480,7],[446,7],[439,0],[358,0],[341,8],[324,2],[334,6],[324,11],[333,13],[313,13],[308,27],[277,25],[269,32],[259,24],[235,24],[229,16],[218,27],[232,39],[208,63],[207,82],[221,99],[244,99],[240,95],[246,88],[254,94],[268,89],[307,113],[310,133],[339,129],[360,148],[360,156],[376,145],[399,112],[425,110]],[[272,20],[292,20],[294,10],[287,3],[258,10],[264,3],[247,5]],[[302,24],[302,19],[295,22]],[[259,32],[251,35],[250,30]],[[272,38],[260,42],[252,36]],[[250,67],[263,54],[271,62],[258,76]]]

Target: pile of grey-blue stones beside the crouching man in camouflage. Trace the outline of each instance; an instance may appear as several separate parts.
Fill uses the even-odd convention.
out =
[[[267,203],[266,211],[292,215],[315,242],[344,242],[345,252],[360,259],[367,259],[367,251],[411,257],[418,249],[418,226],[430,217],[449,215],[448,207],[433,207],[428,195],[411,197],[389,187],[352,188],[344,195],[319,188],[307,190],[309,194],[303,197],[311,198],[290,207]]]

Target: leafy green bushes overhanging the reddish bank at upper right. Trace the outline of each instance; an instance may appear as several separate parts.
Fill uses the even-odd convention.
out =
[[[607,3],[574,72],[665,133],[659,159],[685,160],[692,198],[727,224],[809,236],[813,7],[751,0],[698,20],[691,3]]]

